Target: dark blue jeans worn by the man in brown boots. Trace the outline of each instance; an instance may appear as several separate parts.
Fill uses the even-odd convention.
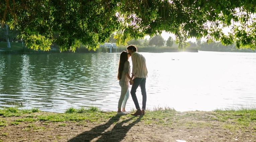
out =
[[[142,94],[142,110],[146,109],[146,102],[147,102],[147,93],[146,93],[146,78],[139,78],[136,77],[133,79],[133,86],[131,89],[131,96],[133,98],[134,104],[136,109],[140,109],[140,105],[136,96],[136,90],[141,86],[141,94]]]

